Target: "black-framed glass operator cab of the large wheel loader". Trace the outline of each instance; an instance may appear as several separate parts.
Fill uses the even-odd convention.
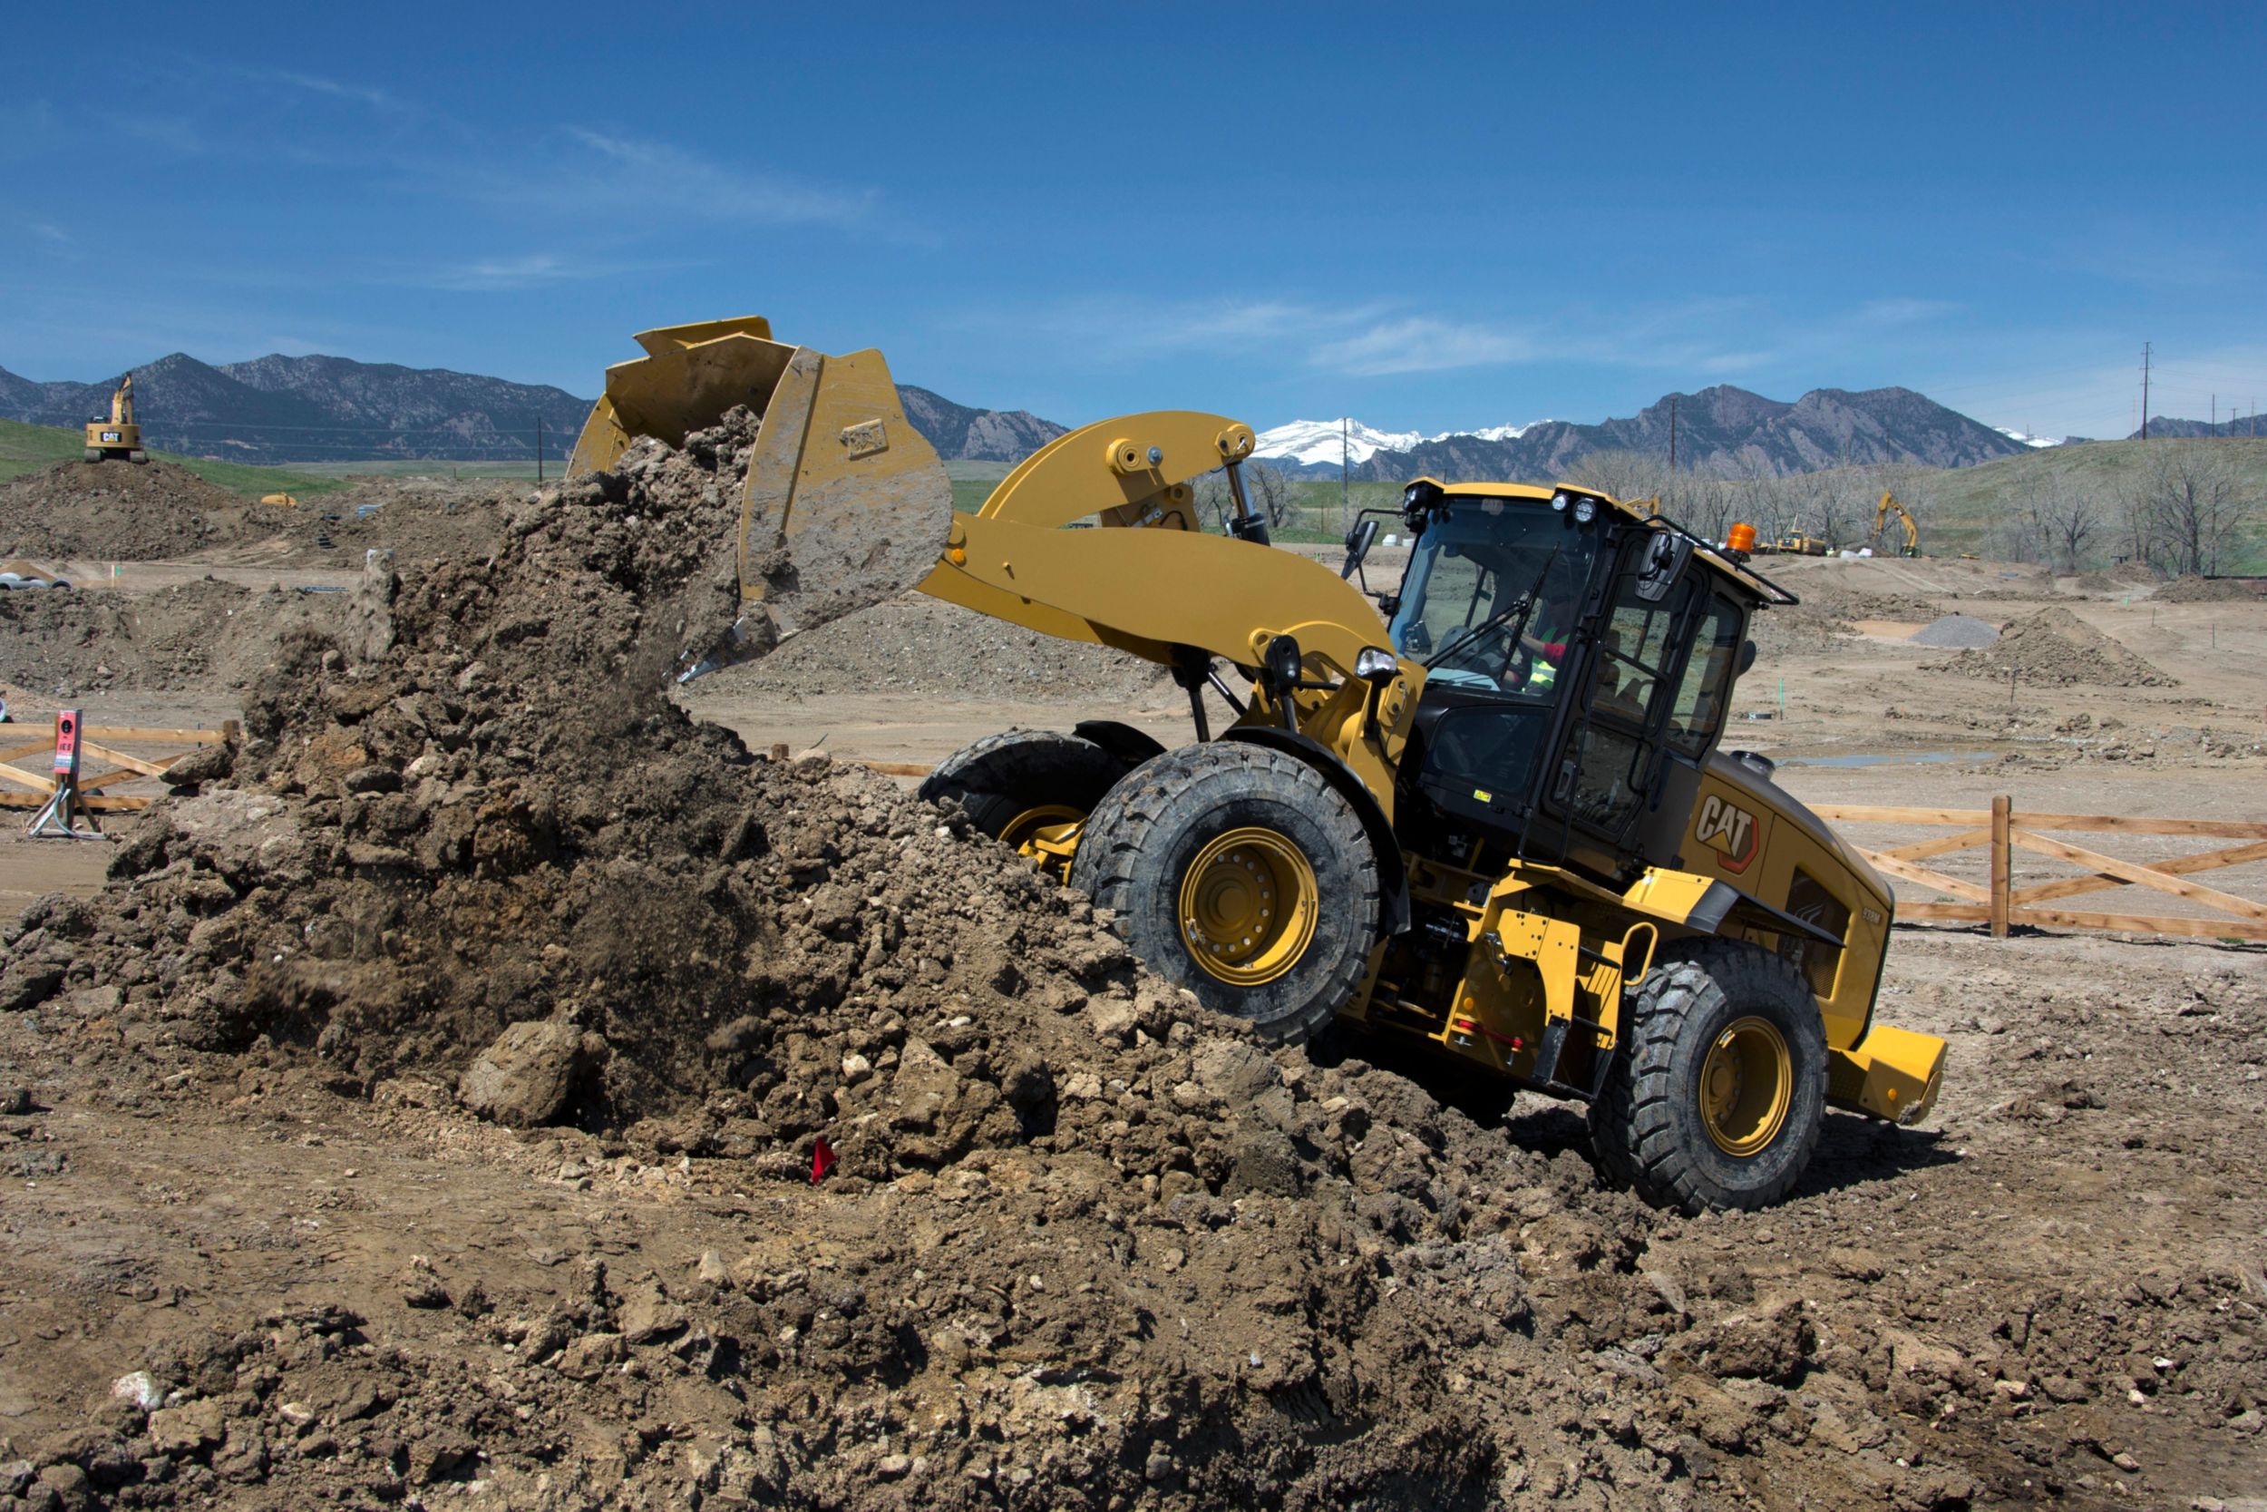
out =
[[[1771,587],[1603,494],[1412,483],[1394,648],[1426,664],[1403,823],[1628,882],[1671,866]]]

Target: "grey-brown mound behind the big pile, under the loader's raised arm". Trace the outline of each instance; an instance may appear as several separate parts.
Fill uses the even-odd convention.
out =
[[[698,687],[805,698],[855,691],[1043,698],[1077,689],[1088,700],[1138,700],[1161,685],[1170,689],[1165,669],[1122,651],[911,596],[798,635],[759,662],[710,673]]]

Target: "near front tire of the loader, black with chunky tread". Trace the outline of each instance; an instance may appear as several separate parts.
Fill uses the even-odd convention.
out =
[[[1301,886],[1313,886],[1281,916],[1263,914],[1270,923],[1254,925],[1263,938],[1249,966],[1199,959],[1181,918],[1183,889],[1202,889],[1195,868],[1233,866],[1236,836],[1254,836],[1292,868],[1297,852],[1310,873]],[[1070,884],[1115,914],[1113,929],[1154,972],[1288,1045],[1304,1045],[1353,997],[1378,938],[1378,861],[1360,816],[1313,766],[1265,746],[1186,746],[1136,766],[1086,821]],[[1236,941],[1222,936],[1213,954],[1222,948],[1233,952]],[[1260,970],[1272,975],[1251,979]]]

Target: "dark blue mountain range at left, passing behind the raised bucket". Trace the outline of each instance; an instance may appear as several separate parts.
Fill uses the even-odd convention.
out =
[[[0,419],[77,428],[109,415],[116,383],[34,383],[0,367]],[[1022,410],[977,410],[902,385],[905,415],[945,458],[1020,462],[1063,433]],[[231,462],[549,460],[574,447],[589,399],[442,367],[270,354],[199,363],[175,351],[134,369],[143,440]]]

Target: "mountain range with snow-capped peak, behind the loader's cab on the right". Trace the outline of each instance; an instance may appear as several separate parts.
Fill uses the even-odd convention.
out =
[[[1671,413],[1675,419],[1671,422]],[[1675,426],[1678,467],[1723,476],[1818,472],[1845,462],[1920,462],[1970,467],[2029,451],[2015,438],[1909,388],[1814,388],[1793,404],[1721,383],[1698,394],[1664,394],[1628,419],[1573,424],[1537,419],[1523,426],[1415,435],[1360,426],[1347,447],[1356,478],[1555,478],[1594,451],[1669,456]],[[1351,431],[1351,426],[1349,426]],[[1294,422],[1260,433],[1258,456],[1301,476],[1338,476],[1340,422]],[[1351,438],[1349,438],[1351,440]]]

